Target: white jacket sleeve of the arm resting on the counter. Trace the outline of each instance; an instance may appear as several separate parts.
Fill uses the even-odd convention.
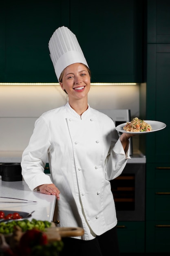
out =
[[[41,116],[35,122],[33,135],[22,154],[22,176],[31,190],[42,184],[51,184],[49,175],[44,173],[48,151],[51,148],[51,134],[48,124]]]

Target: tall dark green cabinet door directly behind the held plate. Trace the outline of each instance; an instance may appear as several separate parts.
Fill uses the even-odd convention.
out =
[[[147,162],[167,162],[170,157],[170,44],[148,44],[146,119],[167,127],[146,136]]]

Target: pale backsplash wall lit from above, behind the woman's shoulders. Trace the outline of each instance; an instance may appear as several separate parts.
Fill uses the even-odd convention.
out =
[[[130,109],[132,118],[139,99],[140,85],[91,85],[88,95],[92,108]],[[0,151],[23,151],[36,119],[66,101],[60,85],[0,85]]]

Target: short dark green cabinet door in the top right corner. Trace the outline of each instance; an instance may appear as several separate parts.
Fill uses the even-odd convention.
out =
[[[148,0],[148,43],[170,43],[170,1]]]

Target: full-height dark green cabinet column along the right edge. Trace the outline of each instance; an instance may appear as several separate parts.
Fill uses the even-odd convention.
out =
[[[146,136],[146,252],[170,253],[170,1],[147,4],[146,119],[167,126]]]

